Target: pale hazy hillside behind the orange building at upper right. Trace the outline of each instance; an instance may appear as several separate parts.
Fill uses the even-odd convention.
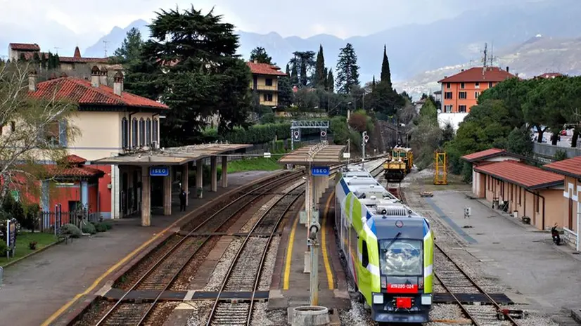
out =
[[[558,39],[551,37],[534,37],[518,46],[509,46],[495,52],[494,60],[500,67],[510,67],[518,77],[530,78],[545,72],[562,74],[581,74],[581,38]],[[480,66],[480,62],[451,65],[430,70],[404,82],[394,83],[398,91],[407,91],[414,98],[421,93],[438,91],[438,80],[445,76],[457,74],[461,69]]]

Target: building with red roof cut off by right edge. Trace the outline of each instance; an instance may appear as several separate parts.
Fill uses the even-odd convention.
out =
[[[544,165],[544,169],[560,174],[565,178],[563,189],[563,219],[560,226],[565,230],[565,240],[571,247],[580,249],[581,228],[581,156],[564,159]]]

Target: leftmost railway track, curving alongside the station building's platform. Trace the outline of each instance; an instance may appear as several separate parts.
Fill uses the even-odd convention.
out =
[[[298,178],[302,173],[289,174],[283,178],[276,179],[262,185],[258,191],[253,191],[241,195],[237,200],[229,202],[226,206],[219,209],[215,214],[205,219],[196,228],[181,237],[173,247],[164,254],[158,261],[123,294],[115,305],[103,317],[98,320],[96,325],[141,325],[148,318],[155,304],[158,303],[160,296],[167,290],[174,280],[177,279],[181,270],[192,259],[198,250],[203,247],[205,242],[210,240],[212,235],[196,235],[196,233],[213,233],[219,230],[226,221],[232,216],[238,214],[247,204],[257,198],[271,192],[274,188]],[[134,290],[155,290],[158,294],[153,302],[148,304],[133,304],[124,302],[124,299]]]

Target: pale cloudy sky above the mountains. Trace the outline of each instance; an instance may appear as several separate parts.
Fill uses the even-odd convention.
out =
[[[523,0],[198,0],[196,8],[216,7],[218,13],[248,32],[279,32],[283,36],[309,37],[328,33],[338,37],[370,34],[409,23],[427,23],[450,18],[475,6],[495,6]],[[153,18],[159,8],[190,6],[191,0],[0,0],[4,13],[2,25],[34,22],[54,28],[51,22],[68,27],[76,34],[94,37],[108,33],[114,26]],[[280,2],[276,4],[276,2]],[[476,2],[477,4],[473,4]]]

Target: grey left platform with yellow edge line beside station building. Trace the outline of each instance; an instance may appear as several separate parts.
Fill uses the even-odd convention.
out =
[[[228,188],[218,187],[217,193],[205,190],[203,200],[190,201],[189,211],[272,173],[274,171],[230,174]],[[195,191],[191,190],[191,195],[195,195]],[[148,228],[140,226],[138,217],[114,221],[113,229],[106,233],[58,244],[6,268],[4,286],[0,288],[0,325],[41,325],[61,306],[91,287],[118,261],[184,216],[184,212],[179,212],[179,202],[174,203],[172,212],[172,216],[152,216]]]

